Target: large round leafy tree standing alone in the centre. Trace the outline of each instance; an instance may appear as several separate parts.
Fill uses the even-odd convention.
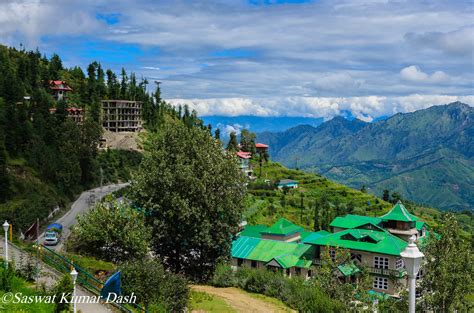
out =
[[[208,278],[230,254],[245,187],[235,158],[207,131],[168,123],[150,134],[131,194],[150,210],[152,245],[166,267]]]

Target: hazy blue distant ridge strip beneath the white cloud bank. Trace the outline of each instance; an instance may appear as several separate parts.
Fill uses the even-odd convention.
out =
[[[226,126],[229,125],[238,129],[246,128],[254,133],[264,131],[282,132],[297,125],[318,126],[324,122],[323,118],[291,116],[203,116],[201,119],[206,125],[211,124],[214,129],[219,127],[221,130],[225,130]]]

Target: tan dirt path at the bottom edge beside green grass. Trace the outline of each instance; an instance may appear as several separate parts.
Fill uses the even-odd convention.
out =
[[[237,288],[216,288],[211,286],[194,285],[191,288],[195,291],[205,292],[213,296],[222,298],[237,312],[296,312],[289,308],[267,302],[263,299],[251,297],[244,291]]]

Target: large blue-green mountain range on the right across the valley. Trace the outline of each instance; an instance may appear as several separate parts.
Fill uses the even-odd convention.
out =
[[[474,208],[474,108],[460,102],[373,123],[336,117],[257,138],[274,160],[354,188],[398,191],[446,210]]]

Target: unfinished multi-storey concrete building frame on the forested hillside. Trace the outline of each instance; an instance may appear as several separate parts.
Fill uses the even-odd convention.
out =
[[[142,128],[142,102],[102,100],[102,126],[113,132],[136,132]]]

